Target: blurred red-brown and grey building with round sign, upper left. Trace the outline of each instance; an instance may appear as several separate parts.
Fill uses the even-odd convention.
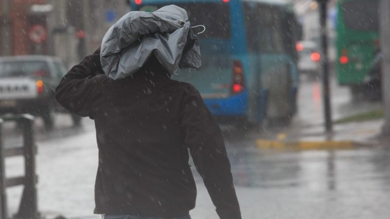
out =
[[[0,0],[0,55],[55,55],[73,64],[128,11],[124,0]]]

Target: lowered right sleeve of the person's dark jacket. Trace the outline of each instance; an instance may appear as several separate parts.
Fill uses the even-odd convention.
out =
[[[180,120],[185,143],[219,218],[241,219],[221,130],[199,92],[192,86],[184,94]]]

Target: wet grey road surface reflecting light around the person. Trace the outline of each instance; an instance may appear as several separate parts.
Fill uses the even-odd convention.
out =
[[[316,89],[315,83],[305,86],[307,90]],[[339,98],[347,99],[346,95]],[[313,100],[301,96],[300,105],[310,105],[307,101]],[[340,104],[345,102],[340,100]],[[293,126],[313,125],[309,119],[301,118],[303,113],[301,110]],[[57,119],[58,126],[50,132],[43,130],[41,121],[36,122],[40,211],[70,218],[101,218],[92,214],[98,164],[93,121],[84,119],[82,128],[73,128],[68,116]],[[7,125],[6,134],[14,133],[12,124]],[[255,130],[224,129],[243,218],[390,218],[389,145],[335,151],[273,151],[256,147],[259,135]],[[15,136],[7,142],[19,140]],[[6,165],[8,176],[23,173],[20,158],[9,158]],[[194,177],[198,199],[190,212],[192,218],[218,218],[201,177]],[[21,187],[7,191],[11,213],[18,208],[20,193]]]

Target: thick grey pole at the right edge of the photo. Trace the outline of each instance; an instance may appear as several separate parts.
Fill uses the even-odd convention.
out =
[[[382,50],[382,100],[384,112],[384,125],[382,134],[390,135],[390,1],[380,1],[380,47]]]

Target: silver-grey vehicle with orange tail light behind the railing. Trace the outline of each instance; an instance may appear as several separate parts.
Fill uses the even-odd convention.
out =
[[[27,113],[54,125],[54,113],[66,112],[54,99],[55,87],[66,74],[61,61],[51,56],[0,58],[0,114]],[[71,114],[75,125],[81,118]]]

